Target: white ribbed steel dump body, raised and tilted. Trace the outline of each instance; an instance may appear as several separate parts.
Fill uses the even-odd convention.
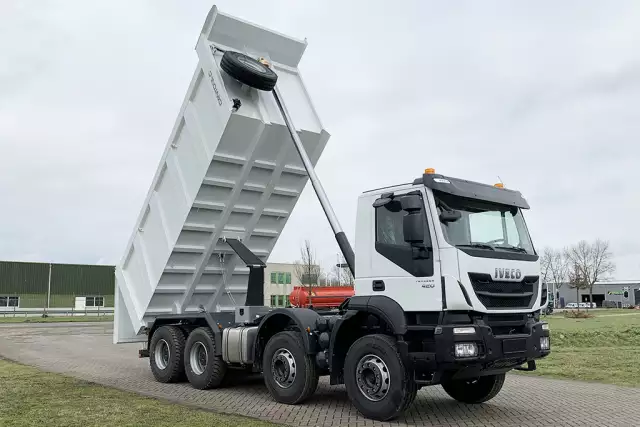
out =
[[[158,315],[245,304],[249,268],[226,239],[240,239],[266,262],[308,176],[272,94],[229,77],[222,51],[270,62],[315,165],[329,134],[297,68],[305,48],[211,9],[198,65],[116,268],[114,342],[146,341],[142,329]]]

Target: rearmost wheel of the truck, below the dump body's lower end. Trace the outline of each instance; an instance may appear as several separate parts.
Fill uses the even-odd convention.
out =
[[[184,381],[184,344],[184,332],[178,326],[168,325],[156,329],[149,345],[149,365],[156,381]]]

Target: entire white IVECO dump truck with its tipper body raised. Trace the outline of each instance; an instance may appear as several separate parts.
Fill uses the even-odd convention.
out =
[[[199,61],[116,268],[115,343],[157,381],[262,374],[300,404],[321,376],[366,417],[421,387],[481,403],[549,354],[547,290],[518,191],[427,169],[357,201],[355,253],[314,167],[329,139],[298,64],[306,41],[215,6]],[[338,310],[267,307],[264,269],[311,181],[355,277]]]

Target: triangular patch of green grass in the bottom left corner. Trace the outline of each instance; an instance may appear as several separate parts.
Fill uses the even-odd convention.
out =
[[[0,360],[0,425],[233,426],[274,424],[216,414]]]

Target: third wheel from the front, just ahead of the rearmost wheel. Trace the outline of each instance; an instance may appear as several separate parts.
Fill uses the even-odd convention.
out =
[[[208,390],[222,385],[227,365],[222,357],[215,355],[215,350],[216,341],[211,328],[191,331],[184,348],[184,370],[193,388]]]

